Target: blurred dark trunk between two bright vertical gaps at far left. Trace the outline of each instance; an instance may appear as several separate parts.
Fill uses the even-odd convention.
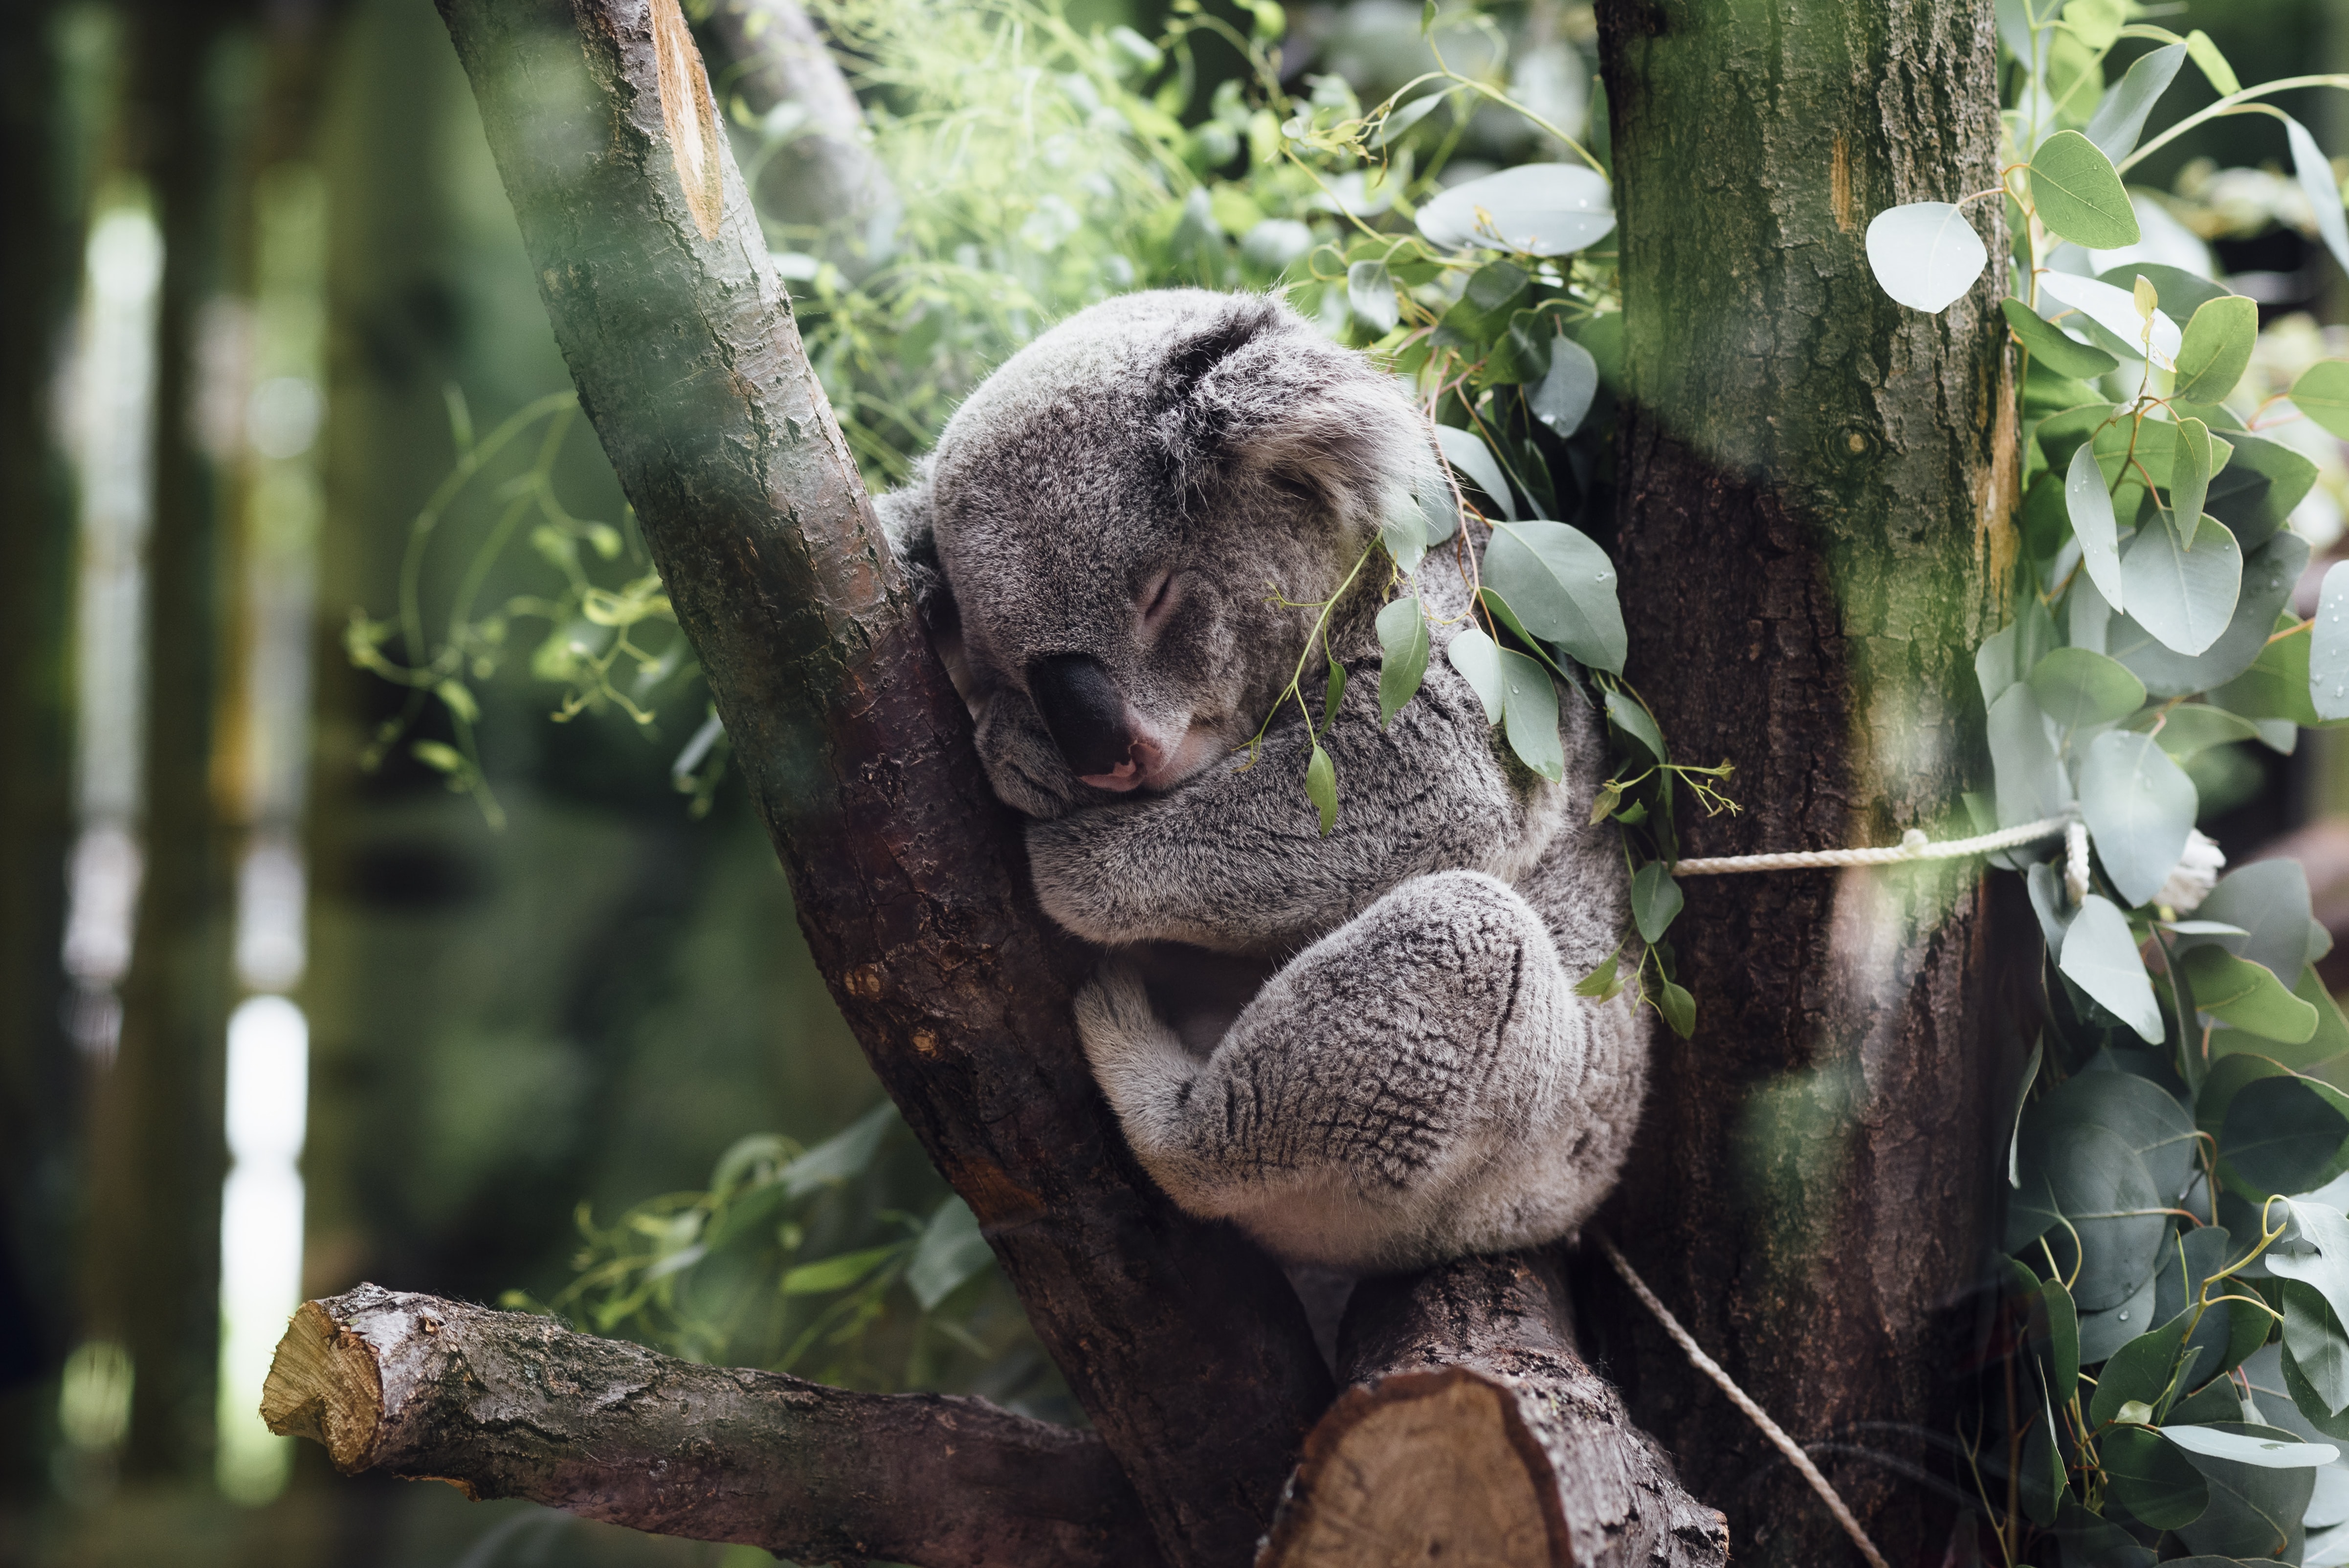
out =
[[[124,1472],[211,1469],[221,1354],[221,1068],[228,1028],[228,840],[214,812],[221,519],[188,406],[195,312],[218,286],[221,146],[204,63],[218,5],[134,12],[132,164],[155,195],[155,477],[146,556],[146,876],[122,981],[122,1038],[89,1115],[87,1331],[132,1354]]]

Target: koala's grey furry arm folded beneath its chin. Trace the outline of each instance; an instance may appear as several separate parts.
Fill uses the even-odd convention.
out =
[[[1337,768],[1327,838],[1304,789],[1306,730],[1280,725],[1247,772],[1217,763],[1165,796],[1029,824],[1045,913],[1104,946],[1261,953],[1315,939],[1412,876],[1515,880],[1564,819],[1567,791],[1501,761],[1482,704],[1440,653],[1384,732],[1377,685],[1374,664],[1348,669],[1322,737]],[[1562,692],[1562,709],[1574,702]],[[1571,772],[1569,789],[1590,793]]]

